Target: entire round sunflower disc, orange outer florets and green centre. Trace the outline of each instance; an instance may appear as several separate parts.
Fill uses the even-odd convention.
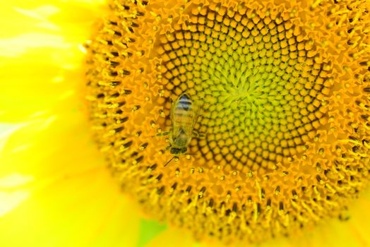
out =
[[[109,1],[86,99],[121,188],[225,243],[347,219],[370,178],[369,19],[366,0]],[[200,134],[174,157],[183,93]]]

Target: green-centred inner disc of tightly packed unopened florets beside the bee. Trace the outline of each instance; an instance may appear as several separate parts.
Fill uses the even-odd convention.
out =
[[[192,152],[234,168],[275,169],[326,121],[330,66],[292,20],[216,8],[193,8],[185,29],[162,37],[162,83],[169,95],[201,103],[197,127],[206,139]]]

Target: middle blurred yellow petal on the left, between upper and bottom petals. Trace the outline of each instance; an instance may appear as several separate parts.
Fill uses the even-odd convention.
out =
[[[42,179],[101,167],[104,162],[86,162],[97,149],[83,114],[65,111],[25,123],[13,133],[0,151],[0,176],[21,173]]]

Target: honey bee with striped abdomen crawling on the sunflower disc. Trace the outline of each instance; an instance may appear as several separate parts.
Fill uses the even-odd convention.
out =
[[[161,135],[169,135],[169,152],[174,155],[172,159],[178,158],[178,155],[183,155],[188,150],[189,143],[193,136],[198,136],[194,131],[194,125],[198,120],[199,107],[191,97],[186,93],[181,94],[172,104],[170,117],[172,128],[169,132]],[[169,161],[165,166],[172,161]]]

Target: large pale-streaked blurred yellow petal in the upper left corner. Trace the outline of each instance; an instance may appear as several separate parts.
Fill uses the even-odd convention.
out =
[[[102,1],[16,1],[2,6],[0,120],[58,111],[81,92],[82,44]]]

